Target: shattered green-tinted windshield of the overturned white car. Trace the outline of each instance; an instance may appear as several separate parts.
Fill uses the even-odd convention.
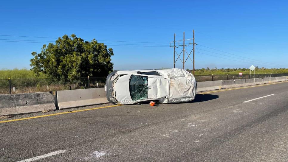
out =
[[[148,77],[132,75],[129,81],[129,91],[133,101],[147,99]]]

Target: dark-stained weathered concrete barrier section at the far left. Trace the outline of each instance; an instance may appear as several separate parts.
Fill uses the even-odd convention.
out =
[[[54,96],[49,92],[0,94],[0,116],[55,110]]]

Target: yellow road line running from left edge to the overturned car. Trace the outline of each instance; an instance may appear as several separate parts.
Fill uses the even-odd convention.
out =
[[[121,105],[111,105],[111,106],[103,106],[99,108],[90,108],[90,109],[83,109],[83,110],[74,110],[74,111],[68,111],[68,112],[62,112],[62,113],[55,113],[55,114],[49,114],[49,115],[40,115],[40,116],[32,116],[28,118],[20,118],[20,119],[13,119],[13,120],[5,120],[5,121],[0,121],[0,123],[7,123],[11,121],[20,121],[20,120],[28,120],[28,119],[36,119],[36,118],[43,118],[47,116],[55,116],[55,115],[62,115],[62,114],[68,114],[68,113],[77,113],[81,111],[88,111],[88,110],[96,110],[96,109],[103,109],[103,108],[112,108],[116,106],[121,106]]]

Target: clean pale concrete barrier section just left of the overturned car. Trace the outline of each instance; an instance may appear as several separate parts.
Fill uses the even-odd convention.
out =
[[[59,110],[109,103],[104,88],[57,91],[56,97]]]

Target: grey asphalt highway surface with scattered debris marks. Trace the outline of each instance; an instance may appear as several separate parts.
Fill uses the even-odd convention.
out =
[[[0,161],[288,161],[288,82],[109,105],[0,123]]]

